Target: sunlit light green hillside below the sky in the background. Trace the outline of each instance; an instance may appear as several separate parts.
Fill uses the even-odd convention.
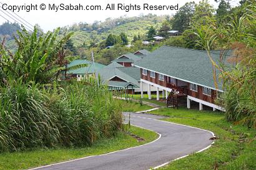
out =
[[[105,40],[109,34],[119,35],[125,32],[129,42],[132,41],[134,35],[143,37],[149,27],[154,26],[156,29],[160,27],[160,22],[169,16],[156,16],[149,14],[139,17],[118,17],[116,19],[106,19],[104,22],[94,22],[93,24],[79,23],[72,26],[62,27],[62,32],[73,31],[74,35],[71,40],[74,47],[79,45],[89,46],[92,42],[98,44]]]

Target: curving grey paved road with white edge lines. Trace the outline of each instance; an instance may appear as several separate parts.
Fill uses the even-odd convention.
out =
[[[124,113],[127,118],[128,113]],[[131,113],[130,123],[160,134],[160,138],[143,146],[54,164],[38,169],[145,170],[167,163],[209,146],[212,133],[157,119],[162,116]]]

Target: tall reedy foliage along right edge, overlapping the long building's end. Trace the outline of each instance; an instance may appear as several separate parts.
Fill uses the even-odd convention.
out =
[[[224,90],[220,100],[226,109],[227,120],[256,127],[256,2],[247,1],[241,9],[228,16],[229,20],[217,22],[210,19],[207,26],[195,26],[197,45],[207,50],[213,70],[220,71]],[[210,54],[211,49],[222,49],[218,65]],[[225,56],[232,49],[230,56]],[[217,81],[216,72],[214,73]],[[216,88],[217,82],[215,82]]]

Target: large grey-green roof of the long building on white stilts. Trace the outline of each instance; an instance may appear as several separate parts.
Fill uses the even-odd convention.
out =
[[[220,55],[212,53],[212,57],[219,64]],[[215,89],[212,63],[207,52],[203,50],[162,46],[147,55],[143,60],[135,62],[134,65],[179,80]],[[217,74],[219,74],[218,71]],[[218,81],[218,83],[219,90],[222,90],[222,82]]]

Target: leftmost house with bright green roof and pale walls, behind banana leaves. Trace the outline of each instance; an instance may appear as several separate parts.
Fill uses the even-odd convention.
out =
[[[87,67],[78,68],[76,70],[70,70],[67,74],[71,75],[71,77],[76,77],[77,81],[82,80],[82,78],[94,76],[94,73],[102,68],[106,67],[106,65],[102,65],[99,63],[92,63],[89,60],[74,60],[67,67],[72,67],[74,65],[87,64]],[[95,69],[94,69],[95,65]]]

